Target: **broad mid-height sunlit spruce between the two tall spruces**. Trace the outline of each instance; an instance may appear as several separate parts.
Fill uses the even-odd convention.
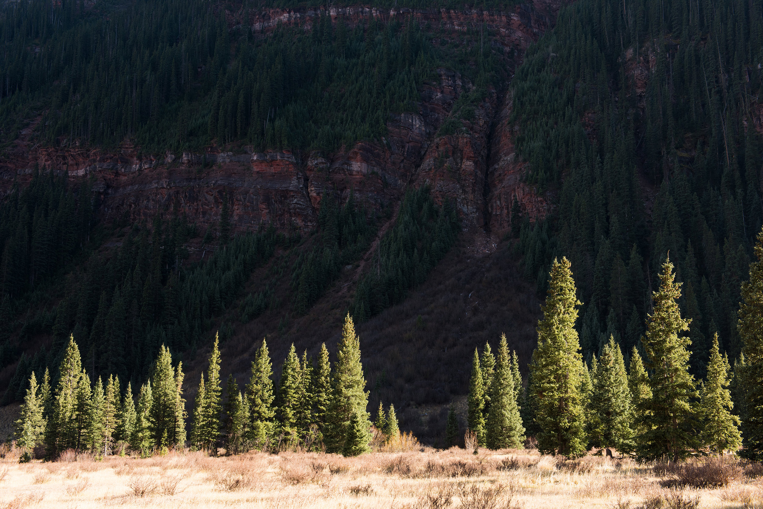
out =
[[[593,369],[591,398],[588,400],[588,437],[594,447],[633,449],[631,394],[625,361],[613,336],[601,350]]]

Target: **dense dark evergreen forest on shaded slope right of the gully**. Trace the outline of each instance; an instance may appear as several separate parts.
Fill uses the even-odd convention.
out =
[[[761,2],[580,0],[517,69],[517,153],[559,200],[546,221],[524,219],[519,249],[541,292],[553,256],[570,259],[587,357],[610,335],[626,354],[636,345],[668,252],[692,373],[716,332],[738,356],[739,285],[763,219],[761,27]]]

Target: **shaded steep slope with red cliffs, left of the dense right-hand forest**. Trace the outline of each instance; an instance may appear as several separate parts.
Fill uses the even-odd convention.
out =
[[[8,216],[29,233],[8,226],[5,245],[50,269],[8,302],[6,402],[31,370],[55,365],[69,331],[92,376],[134,383],[150,352],[172,345],[189,366],[192,401],[214,331],[224,370],[243,383],[263,337],[278,367],[292,341],[308,354],[323,341],[333,349],[351,311],[365,319],[372,405],[394,402],[401,425],[436,440],[475,347],[506,331],[529,360],[539,308],[503,238],[514,197],[538,217],[549,203],[510,155],[508,90],[558,2],[487,11],[169,2],[153,10],[159,35],[132,25],[140,5],[66,4],[54,9],[59,25],[27,24],[43,5],[5,11],[2,40],[27,50],[2,66],[0,188],[21,203],[14,186],[66,175],[72,209],[89,203],[93,216],[72,258],[55,262],[63,226],[50,222],[49,244],[29,240],[41,231],[31,211],[47,217],[49,198],[25,199],[29,219],[21,205]],[[404,197],[421,187],[412,212]],[[227,243],[258,230],[246,242],[266,251]],[[414,232],[419,250],[403,261],[394,238]],[[241,268],[237,252],[254,258]],[[5,259],[36,274],[26,258]],[[413,272],[374,279],[374,267],[381,276],[400,263]]]

